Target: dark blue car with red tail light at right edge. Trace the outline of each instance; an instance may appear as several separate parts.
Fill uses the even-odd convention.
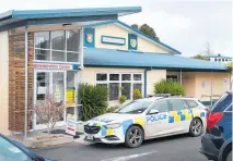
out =
[[[225,92],[207,114],[200,152],[209,160],[232,161],[232,91]]]

